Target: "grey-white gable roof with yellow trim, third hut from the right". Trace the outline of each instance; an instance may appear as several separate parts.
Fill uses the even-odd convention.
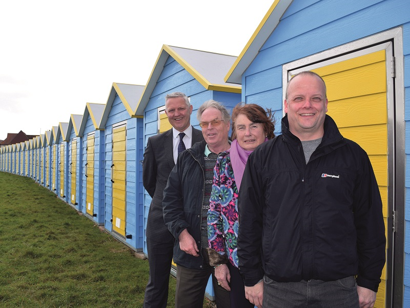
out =
[[[145,86],[120,84],[114,82],[112,84],[110,94],[108,95],[107,104],[104,108],[103,117],[101,117],[99,127],[106,127],[108,115],[110,114],[110,110],[115,99],[115,94],[118,94],[122,104],[124,104],[127,109],[128,114],[130,114],[130,117],[133,117],[144,88]]]

